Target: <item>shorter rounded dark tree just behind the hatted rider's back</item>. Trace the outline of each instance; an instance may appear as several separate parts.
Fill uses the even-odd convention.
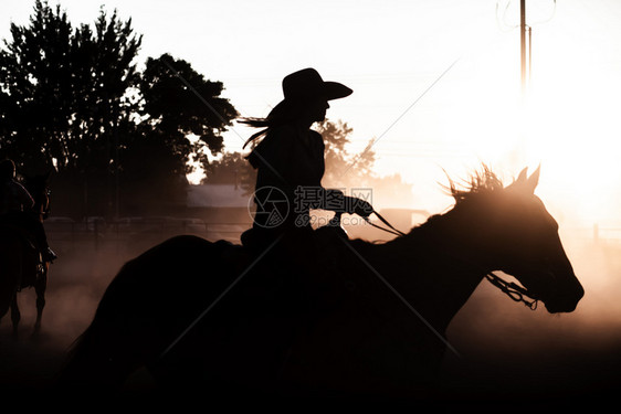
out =
[[[220,97],[222,89],[222,83],[204,79],[183,60],[169,54],[147,60],[138,88],[143,120],[120,155],[125,212],[161,213],[185,203],[189,161],[207,168],[206,152],[222,151],[221,134],[238,116]],[[146,200],[157,203],[145,205]]]

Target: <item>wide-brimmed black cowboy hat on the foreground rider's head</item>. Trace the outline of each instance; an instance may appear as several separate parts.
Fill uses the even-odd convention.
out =
[[[283,79],[285,99],[324,98],[326,100],[344,98],[354,91],[338,82],[325,82],[312,67],[294,72]]]

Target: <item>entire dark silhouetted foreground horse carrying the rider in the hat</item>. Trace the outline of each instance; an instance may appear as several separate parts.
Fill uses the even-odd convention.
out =
[[[452,211],[385,244],[333,242],[340,266],[312,312],[292,310],[304,295],[266,272],[277,263],[265,268],[240,246],[171,238],[110,283],[63,381],[118,388],[144,365],[164,389],[424,390],[444,352],[456,352],[449,323],[490,272],[512,274],[554,312],[573,310],[583,295],[534,181],[480,185],[464,200],[455,191]]]

